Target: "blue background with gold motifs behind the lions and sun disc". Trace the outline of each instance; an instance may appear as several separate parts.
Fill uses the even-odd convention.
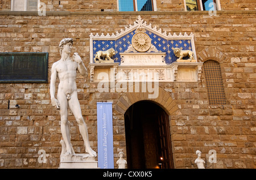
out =
[[[133,38],[134,34],[135,30],[119,38],[118,40],[93,40],[93,58],[95,57],[96,52],[99,50],[108,50],[113,48],[115,50],[115,55],[112,57],[112,59],[114,59],[114,62],[120,63],[121,58],[119,53],[123,53],[127,50],[131,44],[131,39]],[[166,53],[165,60],[167,65],[170,65],[177,59],[177,57],[174,55],[174,48],[192,50],[190,40],[179,40],[179,37],[177,37],[176,40],[166,40],[165,38],[155,35],[150,31],[146,31],[146,34],[151,38],[151,43],[156,47],[156,49],[159,50],[159,52]]]

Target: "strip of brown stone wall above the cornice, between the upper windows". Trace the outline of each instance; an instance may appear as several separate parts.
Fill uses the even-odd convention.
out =
[[[46,4],[47,11],[71,11],[71,12],[89,12],[89,11],[117,11],[117,1],[82,1],[82,0],[67,0],[67,1],[47,1],[40,0]],[[230,10],[255,10],[256,3],[251,0],[234,1],[234,0],[220,0],[221,9]],[[184,11],[184,0],[156,0],[156,7],[158,11]],[[11,0],[1,0],[0,10],[10,10]]]

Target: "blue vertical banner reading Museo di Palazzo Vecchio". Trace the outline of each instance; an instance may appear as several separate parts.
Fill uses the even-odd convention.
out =
[[[97,102],[98,168],[113,169],[112,102]]]

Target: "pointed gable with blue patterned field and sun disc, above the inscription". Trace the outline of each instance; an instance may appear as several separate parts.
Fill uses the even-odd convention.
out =
[[[97,56],[97,52],[105,51],[113,48],[115,55],[113,55],[114,62],[118,62],[121,65],[122,57],[120,53],[166,53],[164,61],[166,65],[171,65],[179,57],[175,55],[175,48],[180,50],[189,50],[193,52],[193,59],[196,59],[195,44],[193,40],[193,33],[188,35],[179,33],[168,33],[162,29],[152,28],[151,24],[148,24],[138,16],[138,19],[133,25],[121,29],[121,32],[113,33],[112,35],[93,35],[90,34],[90,63],[94,63],[93,59]],[[104,58],[104,57],[102,57]],[[185,60],[189,57],[183,57]],[[95,63],[97,63],[96,61]],[[106,59],[108,62],[108,59]],[[184,61],[185,62],[185,61]],[[196,62],[191,61],[191,62]]]

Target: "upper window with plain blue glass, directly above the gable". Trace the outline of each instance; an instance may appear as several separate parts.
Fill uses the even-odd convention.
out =
[[[118,0],[119,11],[153,11],[156,0]]]

